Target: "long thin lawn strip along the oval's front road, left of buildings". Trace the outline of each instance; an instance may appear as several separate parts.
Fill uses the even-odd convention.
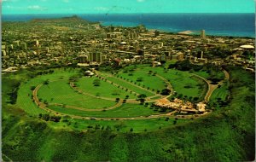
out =
[[[126,118],[126,117],[139,117],[147,116],[152,114],[159,114],[154,109],[149,109],[149,107],[144,107],[143,105],[129,104],[125,103],[120,107],[114,108],[108,111],[101,112],[84,112],[76,109],[71,109],[67,107],[49,106],[49,109],[55,110],[60,113],[66,113],[71,115],[79,115],[84,117],[106,117],[106,118]]]

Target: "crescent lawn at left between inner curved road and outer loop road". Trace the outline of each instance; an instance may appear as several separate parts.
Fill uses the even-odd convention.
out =
[[[38,90],[38,99],[48,101],[49,103],[60,103],[68,106],[84,107],[97,109],[103,107],[112,107],[115,101],[97,99],[88,95],[79,94],[73,90],[67,80],[58,80],[43,85]]]

